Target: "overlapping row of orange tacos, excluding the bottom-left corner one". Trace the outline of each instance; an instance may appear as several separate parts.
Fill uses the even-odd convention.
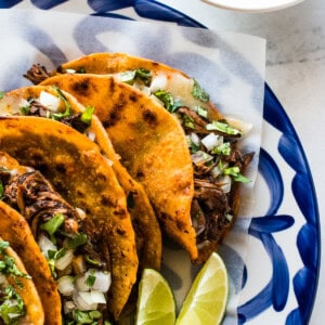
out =
[[[231,230],[247,126],[184,73],[123,53],[25,77],[41,83],[0,95],[0,237],[32,277],[39,324],[118,321],[142,270],[160,269],[161,233],[202,263]]]

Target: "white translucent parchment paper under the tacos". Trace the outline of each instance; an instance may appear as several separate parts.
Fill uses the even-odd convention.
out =
[[[247,35],[132,22],[55,11],[0,11],[0,90],[30,86],[23,74],[34,64],[48,69],[92,52],[127,52],[171,65],[195,77],[225,116],[252,125],[243,142],[256,153],[243,188],[240,216],[220,247],[231,280],[225,324],[237,324],[247,230],[253,213],[253,184],[262,132],[265,41]],[[162,273],[172,285],[180,308],[198,266],[174,247],[164,251]]]

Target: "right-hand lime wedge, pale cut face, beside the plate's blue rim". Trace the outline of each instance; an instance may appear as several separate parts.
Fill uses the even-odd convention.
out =
[[[195,277],[176,324],[220,324],[227,295],[227,272],[220,256],[213,252]]]

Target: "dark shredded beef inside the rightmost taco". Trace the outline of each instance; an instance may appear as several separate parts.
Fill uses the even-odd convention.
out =
[[[204,138],[211,131],[206,129],[209,123],[208,118],[199,116],[196,112],[180,107],[178,113],[183,120],[183,127],[186,134],[195,132],[198,138]],[[191,119],[191,123],[187,121]],[[222,135],[224,142],[229,142],[231,151],[229,155],[220,155],[219,160],[229,164],[229,167],[238,167],[244,172],[250,164],[253,153],[245,156],[236,148],[237,134],[227,134],[222,131],[213,131],[216,134]],[[206,151],[203,145],[199,150]],[[234,216],[234,196],[237,185],[232,184],[231,192],[225,193],[222,190],[222,183],[218,182],[212,174],[213,168],[219,160],[202,164],[194,167],[194,198],[191,207],[192,223],[196,231],[197,244],[219,243],[225,232],[232,225],[232,217]]]

